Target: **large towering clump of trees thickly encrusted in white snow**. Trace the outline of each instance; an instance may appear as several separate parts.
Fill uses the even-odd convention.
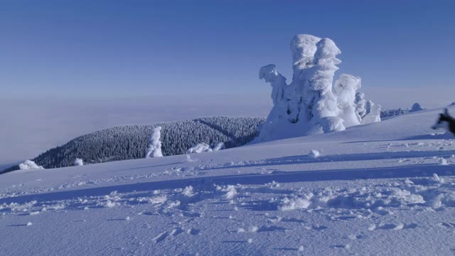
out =
[[[361,80],[342,74],[333,84],[341,53],[329,38],[297,35],[291,41],[292,82],[287,85],[275,65],[259,70],[272,85],[273,107],[256,142],[342,131],[380,121],[380,105],[357,94]]]

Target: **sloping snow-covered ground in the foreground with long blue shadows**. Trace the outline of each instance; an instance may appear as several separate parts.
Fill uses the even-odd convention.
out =
[[[430,129],[439,112],[202,154],[4,174],[0,251],[453,255],[455,141]]]

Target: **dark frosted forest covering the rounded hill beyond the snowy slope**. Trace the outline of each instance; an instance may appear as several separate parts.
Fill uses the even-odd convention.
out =
[[[154,125],[113,127],[77,137],[31,160],[44,168],[57,168],[144,158],[154,127],[162,127],[160,142],[164,156],[186,154],[188,149],[201,142],[210,145],[213,150],[219,142],[223,142],[226,148],[232,148],[251,142],[259,134],[263,123],[264,118],[204,117]],[[83,159],[83,162],[76,163],[75,159]],[[14,166],[8,171],[14,169],[19,168]]]

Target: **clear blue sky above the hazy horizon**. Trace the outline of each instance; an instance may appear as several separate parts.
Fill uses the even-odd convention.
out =
[[[455,1],[1,1],[0,97],[269,95],[289,42],[336,42],[364,88],[455,101]],[[368,96],[368,95],[367,95]],[[267,99],[268,100],[268,99]]]

